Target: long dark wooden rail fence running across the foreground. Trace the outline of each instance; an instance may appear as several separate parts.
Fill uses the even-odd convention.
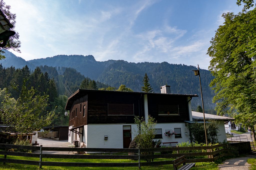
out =
[[[174,147],[174,148],[147,148],[147,149],[116,149],[116,148],[55,148],[55,147],[40,147],[37,146],[25,146],[25,145],[12,145],[12,144],[0,144],[0,148],[5,151],[0,151],[0,155],[4,155],[4,158],[0,158],[0,162],[27,164],[27,165],[39,165],[41,166],[80,166],[80,167],[141,167],[141,166],[156,166],[172,164],[172,159],[185,155],[185,157],[191,156],[204,156],[208,155],[208,158],[201,159],[187,159],[186,163],[192,162],[212,162],[226,155],[239,155],[237,148],[227,144],[218,144],[213,146],[197,146],[197,147]],[[40,153],[24,153],[8,151],[9,149],[28,149],[38,150]],[[197,150],[194,153],[180,153],[184,151]],[[206,152],[208,150],[209,152]],[[213,151],[214,150],[214,151]],[[118,153],[118,152],[135,152],[138,155],[97,155],[97,154],[46,154],[42,151],[72,151],[72,152],[104,152],[104,153]],[[145,154],[152,152],[168,152],[177,151],[178,153],[172,154]],[[145,155],[144,155],[145,154]],[[12,156],[25,156],[25,157],[37,157],[38,161],[30,160],[18,160],[8,159],[8,155]],[[138,162],[132,163],[87,163],[87,162],[47,162],[43,161],[44,158],[62,158],[62,159],[133,159]],[[155,161],[155,162],[141,162],[145,159],[155,158],[168,158],[169,161]]]

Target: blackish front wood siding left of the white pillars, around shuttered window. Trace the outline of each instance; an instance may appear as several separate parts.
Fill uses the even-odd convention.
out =
[[[134,115],[108,115],[108,103],[133,104],[134,115],[144,117],[144,97],[140,93],[88,93],[88,124],[134,123]]]

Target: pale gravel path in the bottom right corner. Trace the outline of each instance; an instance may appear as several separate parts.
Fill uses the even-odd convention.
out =
[[[223,161],[220,164],[219,170],[248,170],[250,164],[247,163],[247,159],[256,158],[255,155],[246,155],[245,157],[236,157]]]

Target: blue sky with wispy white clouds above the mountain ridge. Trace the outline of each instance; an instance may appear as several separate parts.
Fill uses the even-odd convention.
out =
[[[168,62],[208,69],[222,13],[235,0],[4,0],[16,14],[21,53],[31,60],[93,55],[97,61]]]

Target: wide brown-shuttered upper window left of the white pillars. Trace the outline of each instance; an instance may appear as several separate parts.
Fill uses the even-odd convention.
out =
[[[134,115],[133,104],[108,103],[108,115]]]

